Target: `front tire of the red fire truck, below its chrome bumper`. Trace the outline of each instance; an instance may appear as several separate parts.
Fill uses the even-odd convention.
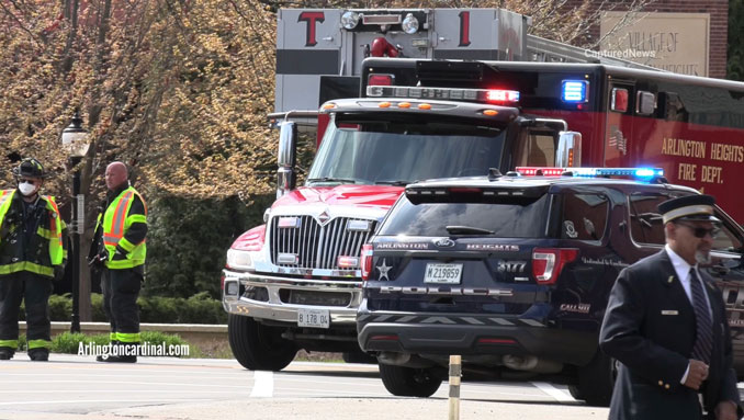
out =
[[[233,355],[251,371],[281,371],[292,362],[297,347],[281,333],[281,329],[263,326],[249,317],[229,314],[227,319]]]

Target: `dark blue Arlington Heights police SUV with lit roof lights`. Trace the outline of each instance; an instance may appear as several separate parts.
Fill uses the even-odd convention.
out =
[[[460,354],[465,372],[542,376],[608,404],[613,362],[597,342],[610,288],[622,268],[663,248],[656,205],[697,193],[662,175],[517,168],[408,185],[362,250],[359,343],[376,354],[387,390],[428,397]],[[741,354],[744,230],[718,207],[715,216],[723,226],[706,270]]]

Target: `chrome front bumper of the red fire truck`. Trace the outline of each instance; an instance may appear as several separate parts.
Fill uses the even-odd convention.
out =
[[[225,286],[223,290],[223,307],[228,314],[244,315],[251,318],[271,319],[289,323],[297,322],[297,309],[325,309],[330,316],[330,329],[334,325],[351,327],[357,321],[357,309],[362,298],[362,282],[350,280],[307,280],[264,275],[260,273],[245,273],[223,270]],[[253,300],[238,294],[228,295],[229,283],[236,282],[243,287],[264,287],[268,292],[268,302]],[[233,287],[234,288],[234,287]],[[312,291],[348,293],[347,306],[294,305],[281,300],[280,291]]]

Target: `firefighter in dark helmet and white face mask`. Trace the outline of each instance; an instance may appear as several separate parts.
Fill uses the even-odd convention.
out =
[[[0,192],[0,360],[18,349],[19,310],[25,299],[32,361],[49,360],[49,295],[64,269],[63,223],[53,197],[40,195],[44,167],[23,159],[13,169],[18,188]]]

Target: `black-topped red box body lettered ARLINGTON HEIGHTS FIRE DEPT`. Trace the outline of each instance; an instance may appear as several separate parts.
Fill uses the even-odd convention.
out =
[[[405,92],[397,86],[413,83],[519,92],[522,114],[565,121],[582,134],[582,166],[662,168],[669,182],[714,195],[744,223],[744,200],[729,190],[744,175],[744,83],[578,64],[371,59],[365,69],[364,80],[392,84],[367,86],[374,97],[395,98]],[[552,139],[518,144],[540,149],[546,164],[555,160]]]

